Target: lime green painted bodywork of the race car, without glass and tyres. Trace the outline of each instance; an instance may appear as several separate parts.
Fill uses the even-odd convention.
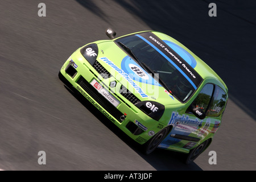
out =
[[[151,36],[151,40],[146,38],[147,35]],[[184,65],[183,72],[188,72],[186,77],[191,76],[191,80],[194,75],[200,76],[200,82],[198,84],[195,82],[195,90],[182,100],[175,94],[172,95],[171,90],[160,84],[157,78],[152,78],[146,69],[138,68],[139,64],[135,58],[127,53],[120,46],[121,44],[118,44],[118,40],[132,36],[142,39],[164,57],[167,55],[167,59],[170,61],[182,59],[183,63],[190,64],[189,68]],[[177,56],[170,53],[170,46],[175,55],[181,53],[183,57],[178,59]],[[95,61],[97,61],[97,66]],[[181,61],[175,64],[180,66],[178,64],[181,64]],[[144,78],[146,77],[147,81],[151,81],[145,82],[142,81],[143,78],[139,80],[130,76],[129,68],[133,69],[134,74],[137,74],[135,77],[138,78],[138,75],[141,74]],[[135,70],[137,68],[138,72]],[[99,70],[105,75],[99,73]],[[100,40],[86,44],[77,49],[65,61],[59,76],[69,82],[111,122],[138,143],[146,143],[159,131],[168,127],[168,134],[158,147],[184,153],[189,153],[205,140],[212,140],[220,127],[222,114],[228,100],[228,88],[225,83],[204,61],[177,40],[156,31],[136,32],[112,40]],[[221,100],[221,107],[218,107],[221,101],[214,104],[211,97],[209,103],[212,103],[212,108],[217,109],[210,109],[211,106],[208,106],[205,118],[200,119],[189,108],[207,84],[208,86],[209,84],[213,85],[212,97],[214,94],[218,94],[215,93],[218,87],[224,98]],[[121,94],[122,85],[131,93]],[[209,114],[210,112],[212,113]]]

